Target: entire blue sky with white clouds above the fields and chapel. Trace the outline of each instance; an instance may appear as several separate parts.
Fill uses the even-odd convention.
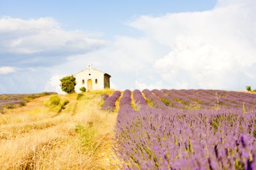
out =
[[[0,1],[0,93],[92,64],[115,89],[256,89],[255,0]]]

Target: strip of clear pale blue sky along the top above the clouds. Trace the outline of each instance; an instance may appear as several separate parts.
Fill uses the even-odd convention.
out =
[[[164,15],[184,11],[212,9],[215,0],[143,0],[143,1],[4,1],[1,15],[31,19],[53,17],[65,30],[101,32],[104,38],[113,39],[117,34],[136,34],[125,27],[125,22],[139,15]]]

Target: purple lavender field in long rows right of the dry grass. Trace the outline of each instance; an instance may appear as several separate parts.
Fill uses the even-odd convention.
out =
[[[119,96],[104,108],[114,110]],[[256,169],[256,94],[144,89],[121,96],[114,147],[121,168]]]

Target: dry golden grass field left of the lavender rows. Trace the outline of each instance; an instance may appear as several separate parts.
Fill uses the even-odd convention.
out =
[[[39,97],[0,114],[0,169],[117,169],[117,113],[100,109],[104,93],[113,90]]]

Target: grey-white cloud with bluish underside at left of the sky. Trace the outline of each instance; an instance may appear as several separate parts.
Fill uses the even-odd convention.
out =
[[[71,54],[84,54],[106,44],[100,34],[63,30],[51,17],[0,17],[0,36],[2,65],[57,65]]]

